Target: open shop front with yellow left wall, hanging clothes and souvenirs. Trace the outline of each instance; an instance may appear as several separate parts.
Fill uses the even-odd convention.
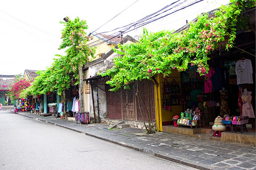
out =
[[[158,76],[159,130],[168,131],[167,126],[175,125],[202,133],[199,128],[212,130],[220,116],[234,123],[232,128],[224,124],[229,128],[222,131],[255,132],[255,33],[238,33],[233,49],[220,46],[209,58],[204,76],[190,64],[181,73],[173,70],[167,78]]]

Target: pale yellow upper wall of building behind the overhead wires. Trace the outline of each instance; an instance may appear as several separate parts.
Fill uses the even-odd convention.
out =
[[[87,42],[87,44],[89,46],[96,47],[94,59],[100,58],[101,54],[108,53],[112,49],[112,47],[115,46],[113,44],[109,44],[109,43],[105,42],[104,40],[102,40],[99,37],[94,36],[92,34],[89,36],[89,41]]]

